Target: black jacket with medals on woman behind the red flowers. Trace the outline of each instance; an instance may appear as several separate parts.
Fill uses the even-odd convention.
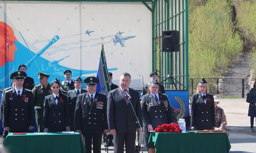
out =
[[[142,96],[141,100],[143,127],[147,127],[151,124],[153,129],[155,129],[162,124],[170,124],[173,122],[171,105],[167,96],[159,94],[159,101],[165,102],[160,103],[160,105],[151,93]],[[166,104],[167,108],[165,106]]]

